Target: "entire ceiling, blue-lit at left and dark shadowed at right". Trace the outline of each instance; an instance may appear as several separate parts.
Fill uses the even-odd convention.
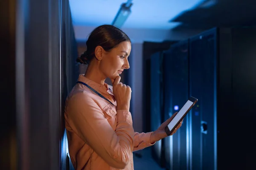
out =
[[[69,0],[76,39],[111,24],[127,0]],[[182,40],[213,27],[255,26],[256,0],[133,0],[122,30],[134,42]]]

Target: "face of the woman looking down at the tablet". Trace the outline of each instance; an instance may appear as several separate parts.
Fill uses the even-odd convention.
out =
[[[131,42],[121,42],[116,48],[103,53],[100,62],[100,70],[106,77],[115,79],[119,74],[122,74],[124,69],[129,69],[128,56],[131,53]]]

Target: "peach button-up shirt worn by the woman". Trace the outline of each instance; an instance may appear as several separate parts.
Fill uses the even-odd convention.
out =
[[[151,146],[150,133],[134,133],[131,113],[116,111],[112,86],[83,75],[84,82],[105,96],[101,98],[77,83],[66,100],[65,127],[70,159],[76,170],[133,170],[133,151]]]

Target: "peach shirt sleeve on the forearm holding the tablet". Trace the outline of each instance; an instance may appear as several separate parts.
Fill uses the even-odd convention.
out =
[[[145,147],[149,147],[154,145],[154,143],[150,143],[150,136],[152,132],[148,133],[134,133],[134,148],[133,151],[144,149]]]

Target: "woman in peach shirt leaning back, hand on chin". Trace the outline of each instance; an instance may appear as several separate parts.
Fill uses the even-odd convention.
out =
[[[131,88],[119,77],[130,67],[131,40],[119,28],[103,25],[91,32],[86,45],[78,62],[88,64],[87,71],[79,76],[65,106],[71,161],[76,170],[133,170],[132,152],[166,137],[164,127],[175,115],[154,132],[134,133]],[[107,77],[113,87],[105,83]]]

